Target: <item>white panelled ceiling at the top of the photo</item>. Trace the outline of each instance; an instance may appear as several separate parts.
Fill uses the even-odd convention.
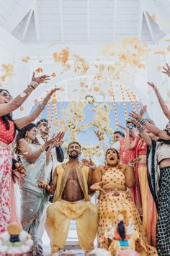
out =
[[[170,0],[0,0],[0,25],[23,43],[156,43],[169,14]]]

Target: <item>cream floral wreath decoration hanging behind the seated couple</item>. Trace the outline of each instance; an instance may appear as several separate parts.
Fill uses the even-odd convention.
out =
[[[86,118],[86,116],[84,116],[84,107],[86,105],[94,107],[94,119],[87,124],[81,124],[81,122],[83,122]],[[107,131],[112,135],[112,129],[109,129],[109,111],[110,109],[107,103],[99,104],[95,101],[93,95],[86,95],[84,102],[72,101],[69,103],[68,108],[63,111],[63,115],[66,119],[68,119],[68,124],[66,126],[66,123],[62,120],[62,124],[59,122],[60,128],[64,132],[69,130],[71,140],[73,141],[78,141],[76,134],[78,132],[82,132],[87,127],[97,127],[99,131],[103,133]],[[94,145],[91,147],[82,145],[82,151],[85,157],[91,157],[91,155],[99,157],[101,155],[101,148],[99,145]]]

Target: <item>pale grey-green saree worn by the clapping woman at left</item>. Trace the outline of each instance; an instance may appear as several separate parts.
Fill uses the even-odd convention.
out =
[[[40,148],[40,145],[29,144],[32,153]],[[35,163],[29,163],[25,158],[21,158],[24,167],[27,170],[27,176],[24,184],[20,187],[21,192],[21,223],[25,231],[32,235],[34,245],[29,255],[42,255],[42,249],[38,247],[38,228],[40,218],[45,205],[48,202],[48,195],[45,189],[40,189],[37,180],[42,179],[47,182],[45,176],[46,153],[42,152]]]

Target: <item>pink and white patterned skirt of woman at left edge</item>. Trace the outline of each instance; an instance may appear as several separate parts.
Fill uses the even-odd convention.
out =
[[[12,182],[12,153],[0,145],[0,233],[11,221],[18,221]]]

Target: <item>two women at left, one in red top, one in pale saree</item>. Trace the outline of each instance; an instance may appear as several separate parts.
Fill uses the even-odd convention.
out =
[[[45,179],[45,167],[48,153],[46,148],[55,144],[55,137],[40,145],[36,139],[37,127],[35,121],[50,97],[58,88],[53,88],[42,103],[30,114],[20,119],[12,119],[12,111],[26,101],[29,95],[40,84],[48,82],[50,77],[42,75],[35,77],[16,98],[12,99],[8,90],[0,90],[0,233],[6,231],[11,221],[20,223],[25,231],[29,231],[35,239],[32,255],[38,255],[37,233],[40,217],[45,209],[48,196],[37,186],[37,179]],[[16,138],[17,133],[17,138]],[[16,138],[16,143],[14,145]],[[50,148],[51,149],[51,148]],[[13,159],[17,151],[18,163]],[[17,214],[14,181],[20,182],[21,210],[20,221]]]

